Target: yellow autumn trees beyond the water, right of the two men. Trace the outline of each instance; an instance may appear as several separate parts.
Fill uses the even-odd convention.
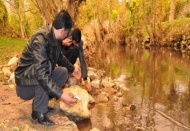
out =
[[[178,18],[177,12],[184,5],[190,4],[189,2],[189,0],[86,0],[79,7],[76,23],[80,28],[91,23],[88,34],[94,32],[98,43],[101,41],[123,43],[125,38],[130,36],[133,38],[136,36],[138,41],[143,41],[141,38],[149,36],[151,45],[159,45],[166,33],[162,22]],[[111,34],[105,34],[105,30],[102,30],[101,26],[105,25],[109,25],[106,33]],[[101,33],[104,33],[107,40],[99,41]]]

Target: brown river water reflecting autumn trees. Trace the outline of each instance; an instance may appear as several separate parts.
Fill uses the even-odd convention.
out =
[[[100,46],[96,68],[121,79],[130,92],[122,101],[97,104],[90,120],[78,123],[81,131],[186,131],[190,130],[190,59],[166,48]],[[110,96],[112,97],[112,96]]]

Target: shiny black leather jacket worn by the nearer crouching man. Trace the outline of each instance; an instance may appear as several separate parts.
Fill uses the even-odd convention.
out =
[[[55,39],[51,25],[43,26],[28,40],[22,52],[18,67],[15,70],[17,85],[40,85],[55,98],[60,98],[62,91],[51,78],[56,64],[64,66],[69,72],[74,71],[73,65],[61,55],[61,45]]]

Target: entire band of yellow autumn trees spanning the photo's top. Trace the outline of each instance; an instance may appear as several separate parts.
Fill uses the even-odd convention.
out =
[[[177,13],[188,2],[189,0],[0,0],[0,28],[1,32],[5,26],[8,28],[6,32],[4,30],[4,35],[26,38],[39,26],[51,23],[61,9],[66,9],[75,25],[80,28],[94,20],[100,26],[108,21],[107,26],[112,27],[108,32],[129,36],[140,33],[137,30],[145,27],[147,34],[156,38],[161,29],[160,23],[177,18]]]

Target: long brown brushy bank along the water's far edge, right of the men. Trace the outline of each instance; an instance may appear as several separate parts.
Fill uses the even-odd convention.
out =
[[[86,44],[84,53],[87,60],[90,61],[89,64],[92,64],[91,59],[100,53],[105,56],[107,48],[110,48],[111,45],[144,49],[170,48],[181,53],[183,57],[190,58],[190,18],[156,24],[155,32],[149,26],[147,29],[143,26],[132,35],[125,35],[119,25],[112,25],[110,30],[107,26],[98,24],[97,21],[86,25],[83,29],[83,39]],[[104,52],[97,52],[98,48],[102,48],[103,45],[107,46]]]

